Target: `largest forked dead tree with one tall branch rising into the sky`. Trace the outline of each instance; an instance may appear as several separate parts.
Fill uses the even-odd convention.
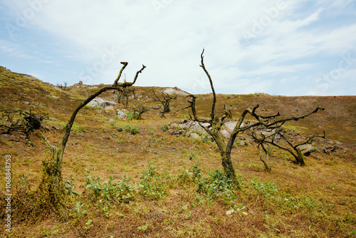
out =
[[[231,179],[231,181],[235,185],[239,185],[236,179],[236,173],[234,170],[234,166],[231,162],[231,150],[234,145],[234,141],[236,139],[236,136],[239,133],[242,133],[246,130],[250,130],[251,128],[256,128],[257,126],[262,126],[263,128],[279,128],[281,127],[284,123],[286,123],[288,120],[299,120],[303,119],[309,115],[312,115],[313,113],[317,113],[318,110],[323,110],[323,108],[316,108],[313,110],[313,112],[307,114],[307,115],[302,115],[300,117],[290,117],[286,119],[281,119],[277,120],[277,118],[280,116],[279,113],[276,113],[274,115],[261,115],[256,112],[258,109],[259,105],[256,105],[252,110],[250,108],[246,108],[240,115],[239,120],[237,121],[235,128],[233,132],[231,133],[231,136],[229,140],[227,140],[227,143],[225,142],[222,134],[221,134],[221,127],[224,125],[224,120],[228,116],[228,113],[224,113],[224,115],[221,116],[221,118],[215,114],[215,107],[216,107],[216,93],[214,90],[213,86],[213,81],[211,80],[211,76],[209,75],[209,72],[206,70],[204,66],[204,49],[201,53],[201,68],[203,68],[204,72],[206,73],[206,76],[209,78],[209,83],[211,87],[211,91],[213,93],[213,103],[211,105],[211,113],[210,113],[210,119],[203,119],[203,118],[198,118],[197,116],[197,111],[196,111],[196,105],[195,105],[195,100],[196,97],[195,95],[188,95],[187,97],[192,98],[192,100],[188,100],[189,102],[189,107],[192,108],[192,114],[191,118],[194,121],[197,121],[199,125],[204,128],[206,133],[211,135],[211,137],[214,139],[216,145],[219,148],[219,152],[221,155],[221,162],[224,167],[224,172],[226,174],[226,177]],[[251,115],[253,118],[257,120],[255,123],[244,123],[244,119],[246,115]],[[203,125],[204,123],[204,125]]]

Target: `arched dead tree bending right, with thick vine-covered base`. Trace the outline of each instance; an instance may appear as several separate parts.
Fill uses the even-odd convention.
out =
[[[61,212],[65,211],[66,209],[66,202],[63,200],[64,196],[64,185],[62,181],[62,165],[63,165],[63,153],[66,148],[66,144],[68,142],[68,138],[70,135],[70,129],[73,126],[75,116],[77,115],[78,111],[83,108],[85,105],[87,105],[91,100],[94,98],[98,97],[98,95],[104,93],[107,90],[117,90],[120,93],[123,93],[125,88],[128,88],[135,84],[137,80],[137,76],[139,73],[142,73],[142,71],[146,68],[146,66],[142,65],[142,68],[140,71],[137,71],[135,78],[132,83],[118,83],[120,76],[122,74],[122,71],[127,66],[127,62],[121,62],[122,63],[122,68],[120,70],[119,75],[115,79],[114,83],[111,86],[106,86],[104,88],[101,88],[98,90],[96,93],[93,93],[93,95],[90,95],[87,99],[83,101],[83,103],[80,103],[77,108],[73,111],[70,119],[66,123],[65,127],[65,133],[63,135],[63,139],[61,143],[59,143],[58,146],[52,145],[48,139],[46,138],[43,133],[41,133],[41,136],[43,140],[45,140],[46,145],[48,145],[48,148],[51,150],[51,155],[52,158],[49,161],[44,161],[42,162],[43,165],[43,175],[42,175],[42,181],[39,186],[39,192],[38,196],[40,196],[41,202],[40,205],[43,207],[42,210],[46,211],[54,211],[54,212]]]

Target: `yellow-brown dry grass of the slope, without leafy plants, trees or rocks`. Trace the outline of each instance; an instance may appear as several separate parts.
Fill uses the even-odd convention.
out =
[[[48,125],[60,130],[46,132],[55,142],[61,140],[62,125],[71,111],[95,88],[68,88],[57,90],[37,79],[26,78],[18,73],[0,68],[0,109],[12,110],[29,106],[36,112],[49,113]],[[143,95],[150,88],[137,88]],[[106,93],[102,98],[112,98]],[[197,100],[199,115],[209,114],[212,95],[202,95]],[[145,97],[138,103],[153,107],[157,103]],[[286,153],[273,151],[273,170],[263,172],[255,145],[237,146],[233,151],[237,174],[244,180],[243,188],[236,192],[236,205],[246,206],[241,212],[226,215],[230,206],[224,200],[212,202],[197,193],[197,185],[182,182],[177,175],[185,169],[191,170],[196,163],[204,176],[221,169],[219,153],[214,143],[176,137],[160,130],[162,125],[174,120],[187,118],[188,111],[169,113],[159,118],[157,110],[144,114],[145,120],[119,121],[103,110],[83,108],[75,119],[64,155],[63,179],[72,180],[76,191],[83,195],[85,202],[85,175],[114,181],[127,175],[133,182],[140,182],[141,172],[149,162],[172,174],[171,182],[164,189],[165,196],[159,200],[136,195],[129,203],[116,204],[108,212],[97,205],[85,209],[87,215],[74,214],[71,219],[59,221],[56,217],[33,224],[19,222],[15,217],[13,237],[347,237],[356,229],[356,175],[355,175],[355,108],[356,97],[281,97],[264,94],[218,95],[221,108],[231,106],[237,115],[246,107],[261,105],[264,113],[300,115],[313,110],[317,105],[325,107],[323,113],[289,124],[289,129],[299,133],[325,130],[328,139],[341,142],[343,148],[336,153],[325,155],[314,153],[307,157],[307,167],[299,167],[286,160]],[[184,96],[174,102],[177,108],[187,105]],[[114,119],[110,123],[109,119]],[[140,128],[140,133],[131,135],[118,132],[117,128],[127,125]],[[323,146],[327,145],[326,142]],[[21,188],[21,177],[28,176],[31,190],[36,189],[41,177],[41,160],[49,157],[43,141],[36,134],[30,140],[21,135],[0,135],[1,158],[13,157],[13,187]],[[193,157],[192,160],[189,160]],[[4,159],[0,162],[1,187],[4,187]],[[251,180],[261,181],[258,186]],[[271,183],[273,184],[271,184]],[[132,184],[131,184],[132,185]],[[278,187],[276,192],[271,188]],[[269,190],[268,190],[269,189]],[[271,192],[272,191],[272,192]],[[85,193],[86,192],[86,193]],[[16,196],[16,193],[14,193]],[[98,203],[97,203],[98,204]],[[182,207],[187,205],[186,212]],[[184,207],[185,208],[185,207]],[[16,207],[14,207],[16,209]],[[246,212],[247,215],[242,213]],[[191,214],[189,214],[191,212]],[[92,220],[91,224],[87,224]],[[147,229],[142,226],[147,225]],[[4,219],[0,222],[0,234],[4,232]],[[84,228],[83,228],[84,227]],[[85,228],[87,227],[87,228]],[[141,229],[139,229],[139,227]]]

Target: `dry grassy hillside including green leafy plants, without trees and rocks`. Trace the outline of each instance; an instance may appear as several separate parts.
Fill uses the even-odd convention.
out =
[[[41,132],[53,145],[61,143],[58,138],[66,130],[63,125],[70,112],[105,87],[68,86],[61,91],[18,73],[11,73],[9,79],[8,71],[0,71],[0,77],[6,88],[0,90],[0,109],[28,110],[21,103],[25,96],[20,95],[26,92],[36,115],[49,113]],[[137,96],[151,90],[135,88]],[[58,100],[46,98],[51,93]],[[100,97],[110,100],[112,93]],[[216,108],[234,103],[233,115],[256,104],[263,105],[267,114],[280,111],[296,116],[315,109],[309,97],[296,101],[281,96],[278,103],[276,96],[269,95],[229,97],[217,94]],[[142,98],[142,105],[156,105]],[[186,106],[184,98],[177,95],[177,108]],[[209,118],[211,98],[210,94],[197,99],[197,113],[203,118]],[[304,156],[305,167],[290,162],[294,157],[288,151],[265,144],[273,170],[263,172],[258,143],[246,133],[236,137],[231,162],[239,190],[231,186],[210,135],[194,131],[201,139],[193,140],[171,134],[169,125],[183,116],[189,119],[190,110],[172,110],[166,118],[150,110],[145,120],[118,120],[99,108],[84,108],[70,128],[63,155],[61,196],[66,200],[61,216],[38,206],[46,197],[35,199],[43,173],[38,168],[51,156],[38,130],[28,140],[21,133],[0,135],[2,157],[11,155],[13,160],[11,237],[355,237],[355,128],[350,125],[356,116],[356,98],[315,99],[327,110],[302,123],[291,120],[283,125],[293,145],[325,130],[326,137],[313,143],[315,150]],[[256,122],[251,115],[246,120]],[[4,175],[4,160],[0,165]],[[5,184],[5,176],[0,176],[0,184]],[[2,193],[0,198],[5,206]],[[0,217],[4,212],[0,209]],[[1,220],[0,234],[7,234]]]

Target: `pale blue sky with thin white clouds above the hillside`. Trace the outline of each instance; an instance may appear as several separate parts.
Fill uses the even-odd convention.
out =
[[[41,81],[355,95],[355,0],[0,0],[0,66]]]

